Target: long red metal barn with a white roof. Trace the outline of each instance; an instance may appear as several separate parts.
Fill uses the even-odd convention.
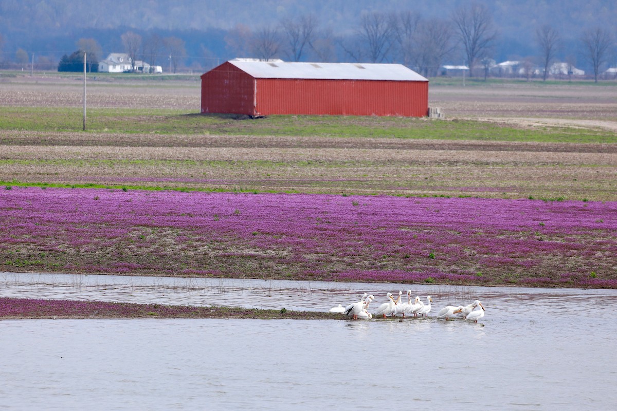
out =
[[[201,112],[428,114],[428,79],[400,64],[230,60],[201,76]]]

